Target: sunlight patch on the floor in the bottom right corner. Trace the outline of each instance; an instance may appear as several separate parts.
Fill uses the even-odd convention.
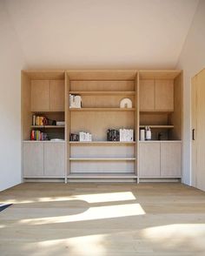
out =
[[[205,224],[153,226],[144,229],[142,236],[163,247],[175,247],[187,243],[188,246],[205,250]]]

